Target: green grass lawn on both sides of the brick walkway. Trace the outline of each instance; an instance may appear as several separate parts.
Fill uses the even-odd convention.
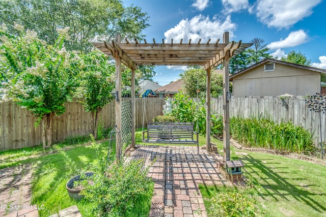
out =
[[[136,133],[136,141],[137,144],[145,144],[141,142],[141,130]],[[205,141],[205,137],[199,137],[200,146]],[[216,139],[212,139],[212,142],[218,145],[223,154],[223,143]],[[90,163],[97,161],[96,150],[85,144],[69,148],[62,146],[65,146],[64,151],[52,149],[54,152],[51,154],[48,153],[51,149],[44,151],[41,147],[0,152],[0,158],[4,159],[0,162],[0,168],[26,163],[33,165],[32,203],[45,207],[45,210],[40,210],[40,216],[57,213],[72,205],[77,205],[83,216],[95,216],[91,212],[95,204],[86,200],[72,200],[65,184],[75,175],[75,169],[90,169]],[[107,147],[108,142],[100,143],[99,153],[106,154]],[[234,147],[231,147],[231,159],[243,161],[244,175],[256,184],[258,205],[265,216],[326,216],[325,166]],[[217,195],[219,191],[223,189],[201,188],[208,211],[212,194]],[[140,205],[144,206],[142,203]]]

